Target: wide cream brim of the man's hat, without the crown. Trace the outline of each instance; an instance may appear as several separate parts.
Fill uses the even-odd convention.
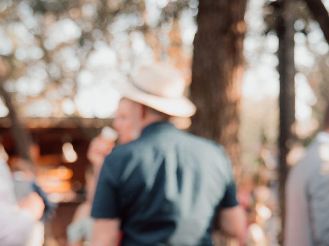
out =
[[[136,101],[159,112],[177,117],[191,117],[196,112],[195,105],[185,96],[177,98],[161,97],[142,91],[131,83],[122,82],[114,85],[122,97]]]

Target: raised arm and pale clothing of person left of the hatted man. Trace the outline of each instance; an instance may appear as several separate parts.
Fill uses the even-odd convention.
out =
[[[91,241],[93,219],[90,217],[95,186],[105,156],[110,153],[115,145],[118,134],[112,128],[105,127],[99,136],[95,137],[89,145],[87,158],[91,165],[85,172],[86,200],[82,202],[66,230],[69,246],[82,246]]]

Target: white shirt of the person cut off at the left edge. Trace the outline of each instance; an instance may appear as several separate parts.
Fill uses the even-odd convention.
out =
[[[24,246],[34,222],[33,215],[17,205],[9,167],[0,158],[0,245]]]

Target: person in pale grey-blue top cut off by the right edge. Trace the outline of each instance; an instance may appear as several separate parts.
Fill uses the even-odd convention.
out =
[[[329,245],[329,107],[323,131],[287,178],[284,245]]]

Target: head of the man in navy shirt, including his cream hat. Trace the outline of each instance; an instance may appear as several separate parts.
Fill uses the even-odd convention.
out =
[[[180,72],[162,63],[142,67],[131,83],[118,85],[123,98],[114,128],[121,144],[136,139],[153,122],[167,121],[170,116],[192,116],[196,108],[184,96],[184,88],[185,80]]]

